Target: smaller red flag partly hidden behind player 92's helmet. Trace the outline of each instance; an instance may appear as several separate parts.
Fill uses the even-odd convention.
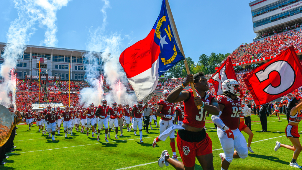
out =
[[[217,95],[221,95],[223,93],[221,90],[221,83],[227,79],[234,79],[238,81],[230,57],[226,59],[216,73],[208,80],[208,82],[214,85]]]

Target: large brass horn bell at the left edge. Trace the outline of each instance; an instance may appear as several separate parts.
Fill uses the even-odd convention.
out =
[[[0,104],[0,147],[5,144],[11,136],[11,131],[23,119],[23,112],[10,112],[5,106]]]

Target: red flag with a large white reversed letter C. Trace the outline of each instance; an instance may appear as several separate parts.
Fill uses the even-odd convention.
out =
[[[302,66],[294,47],[243,75],[257,106],[268,103],[302,85]]]

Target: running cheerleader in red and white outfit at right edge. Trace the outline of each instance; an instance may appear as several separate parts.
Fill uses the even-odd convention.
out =
[[[289,118],[288,126],[286,126],[286,128],[285,128],[285,135],[291,141],[293,146],[284,145],[277,141],[276,146],[275,146],[275,152],[280,147],[294,151],[294,155],[293,155],[289,165],[293,166],[295,168],[302,168],[300,165],[297,164],[297,158],[298,158],[300,152],[302,151],[302,146],[300,144],[300,139],[299,139],[300,135],[298,132],[298,125],[299,125],[299,122],[302,120],[301,96],[296,96],[295,98],[293,98],[290,101],[287,109],[290,110],[290,115],[289,115],[290,118]]]

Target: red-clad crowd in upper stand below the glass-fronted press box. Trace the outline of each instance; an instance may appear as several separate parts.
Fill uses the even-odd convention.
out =
[[[240,45],[229,56],[233,63],[255,59],[257,54],[263,53],[261,57],[280,54],[286,48],[294,45],[295,50],[302,47],[302,30],[291,30],[287,34],[280,34],[265,38],[263,41],[254,41],[250,44]]]

